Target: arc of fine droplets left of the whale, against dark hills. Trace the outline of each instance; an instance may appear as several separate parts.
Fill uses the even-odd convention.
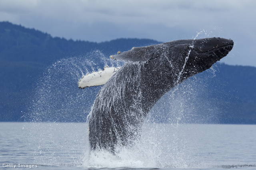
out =
[[[78,88],[78,80],[104,66],[120,66],[100,51],[61,59],[38,78],[26,120],[30,122],[85,122],[100,87]]]

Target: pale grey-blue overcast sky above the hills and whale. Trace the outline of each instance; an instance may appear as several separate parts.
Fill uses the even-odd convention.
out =
[[[92,42],[223,37],[222,63],[256,66],[256,0],[0,0],[0,21]]]

